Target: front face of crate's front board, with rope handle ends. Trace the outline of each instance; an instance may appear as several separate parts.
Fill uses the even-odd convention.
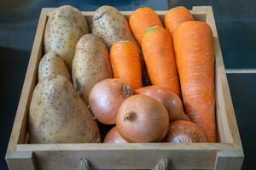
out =
[[[38,168],[42,170],[78,169],[84,157],[93,169],[151,169],[169,157],[172,169],[212,169],[212,150],[69,150],[35,151]]]

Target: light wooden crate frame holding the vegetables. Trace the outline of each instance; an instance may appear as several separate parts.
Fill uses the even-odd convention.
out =
[[[170,158],[170,169],[241,169],[243,150],[236,116],[225,75],[212,7],[194,7],[195,20],[212,27],[216,57],[216,111],[218,143],[201,144],[27,144],[27,116],[32,92],[37,84],[38,63],[43,55],[44,28],[53,8],[43,8],[26,78],[9,139],[6,161],[9,169],[79,169],[86,158],[96,169],[150,169],[163,158]],[[131,11],[122,12],[127,18]],[[166,11],[157,11],[161,20]],[[91,23],[93,12],[83,12]]]

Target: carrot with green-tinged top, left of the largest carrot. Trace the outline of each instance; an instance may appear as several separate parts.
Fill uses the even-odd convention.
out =
[[[168,88],[180,96],[170,33],[160,26],[148,28],[143,36],[142,47],[152,84]]]

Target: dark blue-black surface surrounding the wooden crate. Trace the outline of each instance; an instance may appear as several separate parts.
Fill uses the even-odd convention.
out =
[[[166,10],[178,5],[187,8],[212,5],[225,67],[242,70],[256,67],[255,0],[1,0],[0,169],[7,169],[4,156],[41,8],[64,4],[73,5],[80,10],[95,10],[105,4],[113,5],[119,10],[134,10],[143,6]],[[253,108],[256,104],[256,74],[232,73],[227,77],[245,152],[242,169],[252,169],[253,154],[256,151],[256,126],[253,124],[256,114]]]

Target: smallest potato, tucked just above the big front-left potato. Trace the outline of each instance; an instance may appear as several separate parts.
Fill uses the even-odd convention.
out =
[[[64,61],[55,52],[45,54],[38,68],[38,82],[49,75],[61,75],[70,80],[70,75]]]

